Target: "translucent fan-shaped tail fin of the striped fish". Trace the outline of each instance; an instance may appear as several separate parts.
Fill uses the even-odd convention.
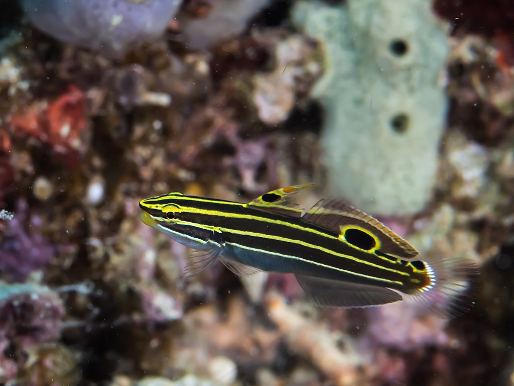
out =
[[[423,259],[431,284],[405,296],[443,319],[459,317],[475,304],[478,266],[467,258],[427,257]]]

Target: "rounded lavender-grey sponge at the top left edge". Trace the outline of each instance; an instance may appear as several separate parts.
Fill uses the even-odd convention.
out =
[[[22,0],[34,26],[53,38],[117,58],[159,37],[182,0]]]

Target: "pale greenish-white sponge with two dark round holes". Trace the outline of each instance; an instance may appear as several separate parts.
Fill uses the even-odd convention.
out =
[[[447,26],[430,0],[299,1],[293,21],[325,50],[313,96],[325,108],[324,162],[335,194],[374,214],[430,200],[447,111]]]

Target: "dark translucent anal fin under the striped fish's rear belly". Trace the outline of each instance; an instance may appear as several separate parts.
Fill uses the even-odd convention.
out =
[[[403,300],[388,288],[298,274],[296,278],[307,297],[319,306],[370,307]]]

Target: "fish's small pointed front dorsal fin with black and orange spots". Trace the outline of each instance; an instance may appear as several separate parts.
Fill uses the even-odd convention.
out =
[[[280,188],[267,192],[253,201],[246,204],[249,207],[265,210],[266,212],[278,213],[280,215],[301,217],[303,208],[296,202],[296,194],[314,184],[295,185]]]

